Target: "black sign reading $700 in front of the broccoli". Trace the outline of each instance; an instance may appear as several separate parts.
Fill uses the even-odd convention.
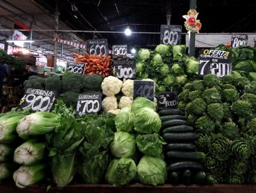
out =
[[[101,110],[102,95],[98,92],[80,94],[77,99],[76,112],[80,116],[91,114]]]

